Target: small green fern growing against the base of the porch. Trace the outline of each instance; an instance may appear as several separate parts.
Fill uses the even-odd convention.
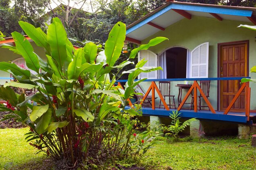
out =
[[[170,113],[170,117],[173,120],[171,121],[171,125],[168,126],[168,131],[170,133],[166,133],[166,135],[173,135],[176,141],[179,140],[179,136],[178,136],[179,132],[182,132],[186,128],[186,126],[189,126],[189,124],[192,121],[196,120],[195,118],[192,118],[184,121],[184,123],[182,124],[180,122],[180,117],[179,117],[180,114],[181,113],[178,113],[178,110],[176,110],[176,112],[173,111],[173,113]]]

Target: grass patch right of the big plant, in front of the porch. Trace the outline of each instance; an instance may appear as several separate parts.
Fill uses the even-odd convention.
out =
[[[163,138],[164,139],[164,138]],[[141,159],[147,170],[256,170],[256,148],[248,140],[214,138],[163,144]]]

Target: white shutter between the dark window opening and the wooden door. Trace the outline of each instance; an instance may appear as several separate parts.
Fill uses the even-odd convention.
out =
[[[190,78],[208,78],[209,42],[191,51]]]

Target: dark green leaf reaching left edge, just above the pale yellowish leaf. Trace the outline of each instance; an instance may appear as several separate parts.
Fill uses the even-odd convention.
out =
[[[30,77],[30,71],[20,68],[14,63],[0,62],[0,70],[6,71],[15,76],[25,76],[27,79]]]

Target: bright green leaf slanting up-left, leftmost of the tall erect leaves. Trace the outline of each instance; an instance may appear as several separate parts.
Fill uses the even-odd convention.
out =
[[[11,35],[13,36],[16,49],[25,59],[27,67],[31,70],[36,71],[36,73],[39,73],[39,60],[34,53],[34,49],[30,42],[23,35],[16,31],[11,33]]]

